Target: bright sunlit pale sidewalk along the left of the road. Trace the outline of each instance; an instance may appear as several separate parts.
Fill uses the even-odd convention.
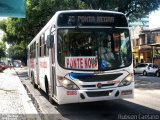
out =
[[[14,68],[0,72],[0,120],[39,120]]]

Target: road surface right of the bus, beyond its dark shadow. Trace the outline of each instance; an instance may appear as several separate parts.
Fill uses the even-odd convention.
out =
[[[129,102],[160,111],[160,77],[135,75],[134,99]]]

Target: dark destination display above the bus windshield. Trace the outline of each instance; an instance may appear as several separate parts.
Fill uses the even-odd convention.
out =
[[[117,26],[128,27],[123,14],[111,13],[61,13],[58,17],[58,26]]]

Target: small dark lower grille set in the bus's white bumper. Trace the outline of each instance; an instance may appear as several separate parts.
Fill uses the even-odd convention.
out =
[[[109,94],[112,92],[113,90],[109,90],[109,91],[96,91],[96,92],[86,92],[86,94],[88,95],[88,97],[101,97],[101,96],[109,96]]]

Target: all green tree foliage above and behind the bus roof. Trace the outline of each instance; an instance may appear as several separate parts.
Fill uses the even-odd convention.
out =
[[[26,57],[27,44],[58,10],[114,10],[125,13],[133,21],[158,9],[159,4],[159,0],[26,0],[26,18],[0,21],[0,29],[5,32],[3,41],[12,44],[10,55]]]

